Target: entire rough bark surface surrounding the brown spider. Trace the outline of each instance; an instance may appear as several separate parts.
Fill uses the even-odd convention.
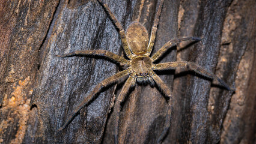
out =
[[[139,20],[150,33],[159,0],[102,0],[126,30]],[[171,127],[162,143],[255,143],[256,2],[165,0],[155,53],[180,43],[157,63],[195,62],[228,91],[194,71],[157,74],[172,89]],[[103,88],[57,131],[102,80],[124,69],[98,56],[59,58],[75,50],[124,56],[120,35],[96,0],[0,1],[0,143],[114,143],[114,100],[126,79]],[[120,143],[157,143],[169,99],[136,84],[121,104]]]

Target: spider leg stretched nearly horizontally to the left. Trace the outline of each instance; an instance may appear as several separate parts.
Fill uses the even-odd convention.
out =
[[[90,55],[97,55],[97,56],[105,56],[107,58],[110,58],[114,61],[119,62],[120,64],[129,65],[129,61],[127,61],[125,58],[116,55],[115,53],[108,52],[106,50],[76,50],[75,52],[66,53],[64,55],[56,55],[61,58],[70,57],[70,56],[90,56]]]

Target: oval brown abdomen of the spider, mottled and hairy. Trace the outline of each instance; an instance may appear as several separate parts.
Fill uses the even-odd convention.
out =
[[[129,25],[126,38],[132,53],[135,55],[143,55],[147,52],[148,32],[141,23],[134,22]]]

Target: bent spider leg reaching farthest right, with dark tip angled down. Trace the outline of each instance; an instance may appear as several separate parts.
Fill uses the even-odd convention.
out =
[[[227,85],[227,83],[223,82],[223,80],[219,79],[219,77],[215,76],[215,74],[212,74],[204,68],[200,67],[199,65],[195,64],[194,62],[186,62],[186,61],[181,61],[181,62],[166,62],[162,64],[156,64],[154,70],[170,70],[170,69],[175,69],[177,67],[183,67],[183,68],[189,68],[189,70],[195,71],[198,74],[201,74],[202,76],[209,77],[210,79],[213,80],[218,80],[218,82],[224,86],[226,89],[229,91],[233,89],[230,89],[230,87]]]

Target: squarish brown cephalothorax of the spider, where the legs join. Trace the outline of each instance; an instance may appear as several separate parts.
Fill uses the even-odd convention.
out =
[[[138,77],[147,77],[152,71],[152,61],[149,56],[136,56],[130,62],[132,70],[135,72],[136,76]]]

